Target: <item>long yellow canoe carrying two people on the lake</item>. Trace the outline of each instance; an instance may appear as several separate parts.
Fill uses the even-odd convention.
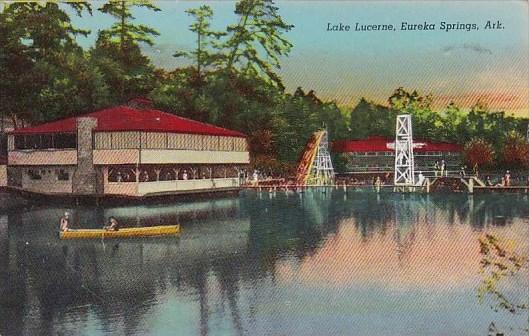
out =
[[[106,239],[106,238],[133,238],[149,236],[167,236],[180,232],[180,225],[148,226],[138,228],[122,228],[118,231],[104,229],[80,229],[59,232],[60,239]]]

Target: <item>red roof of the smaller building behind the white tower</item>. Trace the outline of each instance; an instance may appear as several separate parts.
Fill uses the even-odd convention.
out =
[[[394,140],[380,136],[372,136],[362,140],[335,141],[332,150],[338,153],[347,152],[392,152]],[[429,142],[413,140],[414,152],[461,152],[463,147],[447,142]]]

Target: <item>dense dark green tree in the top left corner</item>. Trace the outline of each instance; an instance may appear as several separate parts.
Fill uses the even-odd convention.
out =
[[[64,9],[54,2],[6,4],[0,14],[0,70],[5,75],[2,90],[8,114],[18,120],[46,121],[68,115],[73,108],[83,109],[83,86],[77,79],[83,63],[83,51],[76,36],[88,30],[72,25]],[[81,16],[91,7],[87,3],[71,3]],[[81,102],[75,104],[75,100]]]

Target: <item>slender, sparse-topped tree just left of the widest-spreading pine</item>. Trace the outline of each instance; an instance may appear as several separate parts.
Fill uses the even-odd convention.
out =
[[[210,20],[213,17],[213,10],[208,5],[202,5],[199,8],[186,10],[186,13],[193,16],[195,21],[189,26],[189,30],[197,35],[197,47],[191,52],[176,52],[175,57],[187,56],[195,60],[198,80],[202,77],[202,70],[218,62],[221,55],[211,49],[219,48],[218,40],[226,35],[223,32],[216,32],[210,29]]]

